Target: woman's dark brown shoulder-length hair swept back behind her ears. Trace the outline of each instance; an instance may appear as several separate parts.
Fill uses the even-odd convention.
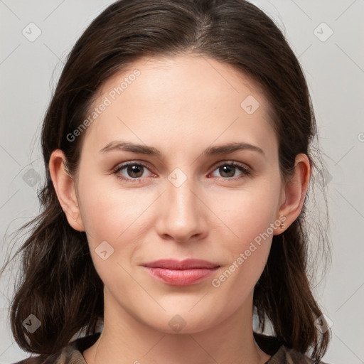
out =
[[[75,176],[82,134],[67,136],[82,124],[95,92],[109,77],[149,56],[196,53],[233,65],[262,87],[279,141],[279,166],[287,181],[295,156],[307,154],[316,136],[309,90],[299,61],[274,22],[244,0],[121,0],[102,12],[68,55],[45,114],[42,149],[46,171],[39,193],[42,213],[21,249],[21,279],[11,305],[16,342],[33,353],[53,353],[78,331],[94,333],[103,317],[103,284],[92,264],[85,232],[73,230],[50,179],[48,163],[55,149],[64,151]],[[85,133],[83,133],[85,134]],[[311,183],[310,183],[311,186]],[[273,237],[253,304],[264,331],[267,319],[280,343],[321,358],[330,331],[314,321],[321,309],[308,279],[308,230],[304,208],[281,235]],[[317,244],[327,244],[319,232]],[[42,323],[27,335],[22,322],[34,314]]]

